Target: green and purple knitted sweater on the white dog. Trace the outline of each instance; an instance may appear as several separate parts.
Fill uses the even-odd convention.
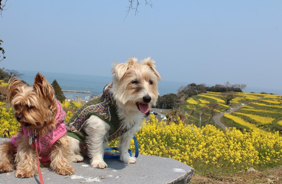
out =
[[[108,141],[129,130],[121,128],[120,119],[116,113],[116,105],[109,90],[111,87],[112,84],[108,84],[105,86],[102,95],[96,96],[78,109],[66,124],[67,135],[79,141],[84,141],[85,135],[87,135],[84,130],[84,123],[91,115],[98,116],[111,126]]]

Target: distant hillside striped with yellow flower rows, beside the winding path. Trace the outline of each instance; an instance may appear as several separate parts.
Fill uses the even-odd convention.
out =
[[[228,118],[228,115],[223,116],[221,121],[228,127],[246,128],[247,131],[255,128],[257,131],[261,131],[262,134],[272,132],[273,130],[279,131],[280,134],[282,133],[282,124],[278,123],[282,121],[282,105],[280,103],[282,102],[282,95],[256,93],[236,94],[237,97],[231,100],[230,105],[224,103],[221,99],[221,93],[207,92],[191,96],[188,100],[193,103],[188,103],[186,106],[190,111],[193,110],[193,114],[191,114],[193,119],[199,118],[198,114],[202,112],[202,114],[204,114],[204,116],[202,116],[203,121],[208,122],[210,114],[204,111],[204,107],[210,102],[219,105],[219,108],[215,110],[216,113],[243,105],[241,109],[233,112],[231,115],[232,117],[242,119],[244,123],[242,123],[242,121],[238,121],[241,123],[236,123],[233,119]]]

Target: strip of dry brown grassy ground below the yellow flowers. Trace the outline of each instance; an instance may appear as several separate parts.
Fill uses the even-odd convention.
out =
[[[190,183],[282,183],[282,166],[256,172],[236,172],[214,176],[194,174]]]

